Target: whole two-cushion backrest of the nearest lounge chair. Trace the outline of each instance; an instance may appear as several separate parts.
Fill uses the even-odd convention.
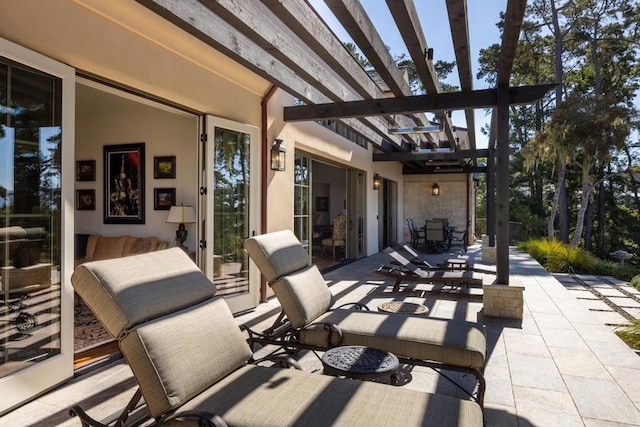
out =
[[[227,303],[179,248],[79,266],[78,294],[118,344],[151,416],[175,409],[252,352]]]

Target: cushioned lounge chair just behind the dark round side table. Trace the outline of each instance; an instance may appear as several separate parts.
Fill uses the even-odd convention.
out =
[[[290,230],[251,237],[245,240],[245,249],[282,306],[269,329],[250,331],[254,343],[285,350],[364,345],[390,351],[409,365],[428,366],[440,373],[442,369],[471,373],[478,384],[474,397],[482,405],[486,357],[482,325],[372,312],[355,304],[357,309],[331,309],[331,291]]]

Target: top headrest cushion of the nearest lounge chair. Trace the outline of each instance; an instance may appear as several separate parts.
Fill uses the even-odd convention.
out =
[[[76,292],[94,312],[100,308],[100,320],[114,337],[144,320],[211,298],[216,292],[182,249],[145,255],[89,262],[73,272]]]

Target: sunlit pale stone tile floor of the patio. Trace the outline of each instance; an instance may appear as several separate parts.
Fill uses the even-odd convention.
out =
[[[481,250],[471,247],[479,263]],[[434,263],[451,254],[428,254]],[[529,255],[511,250],[510,281],[525,286],[522,321],[484,317],[482,290],[410,284],[391,293],[393,280],[374,273],[389,264],[376,254],[324,274],[337,303],[358,301],[375,310],[382,302],[421,303],[428,316],[481,322],[487,331],[487,426],[640,426],[640,355],[613,332],[640,317],[640,292],[612,278],[551,275]],[[495,276],[485,275],[485,284]],[[612,308],[611,303],[615,304]],[[278,314],[275,299],[239,316],[261,330]],[[188,332],[188,331],[185,331]],[[303,369],[321,374],[311,352],[298,355]],[[403,387],[462,397],[440,375],[403,367]],[[473,380],[451,373],[466,385]],[[391,387],[391,386],[390,386]],[[123,361],[78,376],[0,418],[0,426],[78,426],[68,409],[81,404],[100,418],[124,406],[135,389]]]

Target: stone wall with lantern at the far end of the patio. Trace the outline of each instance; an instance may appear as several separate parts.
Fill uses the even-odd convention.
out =
[[[422,227],[425,220],[448,218],[449,225],[463,229],[475,215],[473,185],[469,186],[467,200],[467,174],[405,175],[404,181],[404,227],[403,238],[410,242],[411,236],[406,226],[407,218],[413,218],[416,226]],[[431,194],[434,183],[440,187],[440,195]],[[472,225],[473,225],[472,221]],[[473,230],[471,230],[473,232]]]

